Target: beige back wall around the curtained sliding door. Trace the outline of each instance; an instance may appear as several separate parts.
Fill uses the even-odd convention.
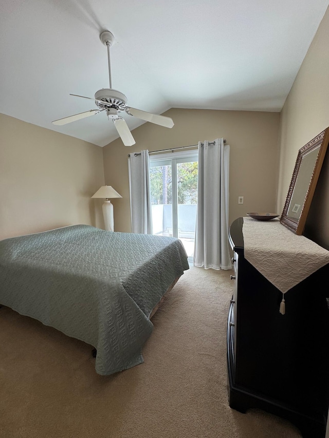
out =
[[[103,148],[105,184],[122,195],[113,199],[116,231],[131,231],[127,154],[221,137],[231,146],[230,223],[247,212],[275,211],[279,113],[172,108],[165,115],[174,120],[172,129],[145,123],[133,131],[134,146],[118,139]],[[237,203],[239,196],[243,205]]]

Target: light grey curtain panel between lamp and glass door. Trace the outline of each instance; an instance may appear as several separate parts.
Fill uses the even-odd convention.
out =
[[[140,154],[131,154],[129,185],[132,232],[153,234],[148,150],[142,150]]]

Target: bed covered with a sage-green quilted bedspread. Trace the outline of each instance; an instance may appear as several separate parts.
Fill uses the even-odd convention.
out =
[[[108,375],[143,362],[150,317],[187,269],[178,239],[72,225],[0,241],[0,304],[95,347]]]

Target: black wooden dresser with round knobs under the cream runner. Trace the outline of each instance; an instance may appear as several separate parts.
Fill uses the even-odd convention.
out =
[[[286,418],[324,438],[329,406],[329,265],[285,294],[244,258],[243,218],[229,233],[234,293],[227,325],[229,405]]]

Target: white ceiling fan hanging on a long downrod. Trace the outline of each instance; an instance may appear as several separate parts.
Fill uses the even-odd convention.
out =
[[[103,44],[107,47],[107,58],[108,58],[108,75],[109,75],[109,88],[102,88],[96,91],[95,98],[87,98],[85,96],[79,96],[78,94],[70,94],[70,96],[76,96],[83,99],[89,99],[95,101],[98,109],[90,109],[89,111],[80,112],[74,116],[64,117],[63,119],[54,120],[52,123],[54,125],[65,125],[66,123],[75,122],[76,120],[84,119],[85,117],[95,116],[99,112],[106,111],[106,115],[109,119],[112,119],[114,125],[118,131],[119,136],[125,146],[132,146],[135,144],[134,137],[130,132],[126,121],[123,117],[120,117],[120,112],[126,112],[130,116],[135,116],[138,119],[145,120],[147,122],[155,123],[156,125],[165,126],[167,128],[172,128],[174,122],[170,117],[159,116],[157,114],[152,114],[151,112],[142,111],[141,109],[132,108],[127,106],[127,98],[123,93],[112,88],[112,78],[111,78],[111,63],[109,59],[109,48],[113,44],[114,36],[111,32],[105,30],[100,34],[100,39]]]

